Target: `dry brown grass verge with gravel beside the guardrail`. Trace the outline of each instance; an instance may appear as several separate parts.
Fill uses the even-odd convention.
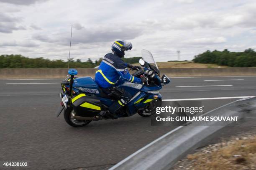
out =
[[[177,162],[174,170],[256,170],[256,135],[207,145]]]

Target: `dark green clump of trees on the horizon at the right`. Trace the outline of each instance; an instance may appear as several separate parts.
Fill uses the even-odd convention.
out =
[[[195,63],[212,63],[230,67],[256,67],[256,52],[248,48],[243,52],[210,51],[198,54],[193,59]]]

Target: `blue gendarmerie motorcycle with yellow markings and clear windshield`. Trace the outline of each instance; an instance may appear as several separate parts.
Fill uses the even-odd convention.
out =
[[[61,83],[61,106],[56,111],[56,117],[59,117],[64,111],[64,119],[70,126],[82,127],[92,121],[101,119],[114,119],[108,107],[115,100],[121,99],[124,89],[132,98],[123,105],[121,112],[115,117],[129,117],[138,113],[142,117],[149,117],[154,114],[156,107],[161,106],[161,94],[159,90],[162,85],[168,84],[170,79],[163,75],[160,79],[160,72],[154,61],[152,54],[147,50],[142,50],[142,58],[139,60],[143,69],[138,69],[133,76],[147,79],[145,84],[136,84],[119,80],[113,87],[110,94],[97,85],[92,77],[77,78],[77,70],[69,69],[69,78]],[[121,103],[121,102],[120,102]]]

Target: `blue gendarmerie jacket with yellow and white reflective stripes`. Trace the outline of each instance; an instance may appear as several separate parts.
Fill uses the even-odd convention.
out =
[[[103,88],[115,86],[120,77],[125,81],[141,83],[141,79],[132,76],[126,67],[127,64],[115,53],[108,53],[104,56],[98,71],[96,71],[95,81]]]

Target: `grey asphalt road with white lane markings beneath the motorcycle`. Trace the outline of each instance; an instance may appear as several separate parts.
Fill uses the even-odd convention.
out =
[[[54,116],[60,81],[0,80],[0,162],[28,162],[28,169],[104,169],[173,128],[151,126],[150,118],[137,114],[70,127],[62,115]],[[256,76],[172,78],[161,94],[163,99],[255,96],[255,84]],[[204,112],[234,100],[202,100]]]

